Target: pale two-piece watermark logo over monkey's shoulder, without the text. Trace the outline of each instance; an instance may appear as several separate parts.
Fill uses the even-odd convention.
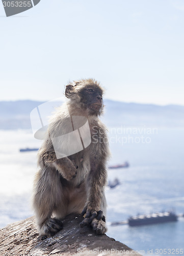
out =
[[[30,117],[32,130],[36,139],[44,139],[48,125],[52,123],[48,116],[63,100],[47,101],[33,109]],[[84,116],[70,116],[67,104],[63,106],[65,118],[56,129],[50,129],[48,136],[52,141],[57,159],[67,157],[84,150],[91,143],[88,119]],[[67,130],[67,133],[64,133]]]

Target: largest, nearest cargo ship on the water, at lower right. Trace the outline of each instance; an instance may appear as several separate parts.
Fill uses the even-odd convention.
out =
[[[157,212],[149,215],[138,215],[128,219],[129,226],[142,226],[156,223],[177,221],[177,215],[173,211]]]

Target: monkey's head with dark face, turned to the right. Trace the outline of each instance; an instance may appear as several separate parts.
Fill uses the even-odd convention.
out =
[[[88,115],[100,115],[103,108],[103,89],[94,79],[83,79],[68,84],[65,96],[76,108],[86,111]]]

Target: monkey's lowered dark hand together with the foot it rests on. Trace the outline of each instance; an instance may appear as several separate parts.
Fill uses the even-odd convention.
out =
[[[86,206],[81,215],[84,216],[84,214],[86,216],[80,223],[80,227],[91,226],[96,234],[106,233],[106,217],[104,217],[102,210],[96,211],[92,207]]]

